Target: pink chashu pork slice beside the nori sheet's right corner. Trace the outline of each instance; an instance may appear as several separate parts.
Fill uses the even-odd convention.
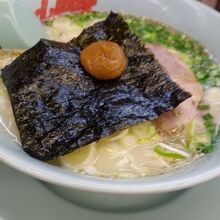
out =
[[[158,62],[166,69],[170,78],[192,96],[172,111],[163,113],[154,120],[155,125],[166,132],[187,125],[199,115],[197,106],[202,100],[203,90],[190,68],[181,59],[166,48],[158,45],[146,45]]]

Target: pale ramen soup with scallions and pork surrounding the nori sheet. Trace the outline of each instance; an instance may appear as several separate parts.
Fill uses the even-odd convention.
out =
[[[94,12],[66,14],[46,20],[44,27],[48,39],[68,42],[106,16]],[[98,177],[136,178],[171,171],[215,150],[220,133],[219,65],[205,48],[187,35],[145,18],[123,17],[170,78],[191,97],[155,120],[127,126],[49,163]],[[0,67],[3,68],[21,52],[1,50],[0,53]],[[85,52],[85,62],[87,54]],[[123,54],[121,57],[123,59]],[[122,62],[121,70],[125,64]],[[20,144],[2,79],[0,105],[1,126]]]

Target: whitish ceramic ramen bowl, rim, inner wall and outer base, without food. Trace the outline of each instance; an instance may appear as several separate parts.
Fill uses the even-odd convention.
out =
[[[220,14],[193,0],[98,0],[94,10],[125,11],[167,23],[193,36],[220,60]],[[220,174],[220,146],[175,172],[134,180],[106,180],[72,173],[29,157],[0,130],[0,159],[44,181],[78,204],[105,210],[133,210],[172,198],[175,191]]]

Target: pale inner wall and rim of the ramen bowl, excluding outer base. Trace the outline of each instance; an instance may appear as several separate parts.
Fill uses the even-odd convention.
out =
[[[97,11],[124,11],[162,21],[199,40],[220,60],[220,15],[192,0],[99,0]],[[220,174],[220,146],[214,153],[174,172],[134,180],[82,176],[28,156],[0,126],[0,160],[41,180],[62,186],[109,193],[165,192],[190,187]]]

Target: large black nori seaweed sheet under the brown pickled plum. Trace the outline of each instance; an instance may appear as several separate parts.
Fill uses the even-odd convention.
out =
[[[123,47],[128,64],[120,78],[100,81],[81,66],[81,50],[99,40]],[[190,97],[115,13],[69,43],[40,40],[6,66],[2,78],[22,146],[40,160],[153,120]]]

